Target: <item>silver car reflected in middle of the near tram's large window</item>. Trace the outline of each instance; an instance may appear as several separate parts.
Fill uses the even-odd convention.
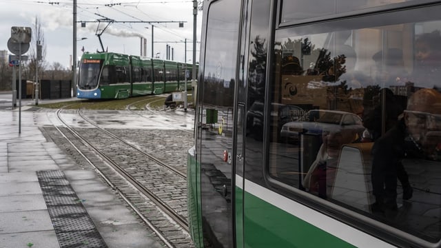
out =
[[[323,131],[346,132],[361,136],[365,127],[360,116],[336,110],[309,110],[298,121],[285,123],[280,130],[283,141],[297,142],[300,134],[321,135]]]

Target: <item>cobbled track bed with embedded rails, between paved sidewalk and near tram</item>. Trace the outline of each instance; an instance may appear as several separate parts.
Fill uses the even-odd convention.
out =
[[[165,245],[192,247],[187,224],[186,156],[179,163],[176,163],[176,156],[157,158],[158,152],[152,148],[157,144],[143,147],[136,141],[145,130],[108,130],[81,110],[76,110],[74,118],[81,118],[88,127],[72,127],[62,112],[57,110],[57,118],[64,127],[55,125],[57,132],[121,195]],[[182,130],[163,130],[155,135],[165,132],[186,135],[189,141],[192,138],[192,134]],[[154,133],[144,134],[152,136]],[[165,224],[167,220],[169,223]],[[170,230],[173,230],[172,235]]]

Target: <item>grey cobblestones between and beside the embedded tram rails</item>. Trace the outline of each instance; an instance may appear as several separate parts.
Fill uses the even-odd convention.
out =
[[[110,125],[107,125],[112,128],[107,128],[106,130],[116,134],[119,136],[119,138],[123,138],[125,141],[136,145],[136,147],[143,149],[145,152],[154,154],[156,158],[160,158],[167,164],[171,164],[175,167],[181,167],[181,170],[186,171],[187,149],[189,149],[193,143],[193,134],[191,132],[173,130],[170,127],[166,127],[166,129],[164,129],[164,127],[161,127],[161,125],[158,125],[157,129],[154,129],[152,128],[152,125],[146,124],[145,121],[142,122],[142,125],[143,127],[147,126],[148,128],[143,129],[141,127],[140,129],[137,129],[136,126],[140,123],[139,117],[133,118],[133,114],[127,112],[91,112],[85,114],[94,115],[94,121],[97,121],[98,123],[110,123]],[[100,114],[102,114],[102,116],[100,116]],[[115,118],[119,114],[122,114],[124,117],[120,118],[119,121],[116,121]],[[130,168],[130,171],[141,178],[140,180],[143,181],[145,185],[154,185],[157,188],[156,194],[158,194],[158,196],[167,198],[168,203],[170,203],[170,205],[174,205],[176,211],[183,213],[184,216],[187,216],[185,180],[181,179],[182,182],[179,183],[176,182],[176,180],[172,180],[167,177],[149,178],[149,173],[143,172],[143,167],[146,165],[142,162],[142,160],[127,155],[120,147],[118,147],[118,145],[110,143],[110,141],[106,140],[105,138],[96,136],[96,129],[83,123],[83,121],[81,121],[78,117],[74,117],[73,113],[70,113],[70,115],[72,115],[70,116],[72,120],[76,120],[72,121],[72,123],[76,123],[77,127],[75,129],[81,132],[82,136],[89,137],[90,140],[93,141],[94,145],[101,147],[101,149],[106,149],[107,154],[113,154],[113,156],[119,157],[121,163],[125,163]],[[133,123],[130,122],[130,119],[132,118],[134,120]],[[122,121],[122,119],[124,120]],[[54,141],[54,143],[56,143],[60,149],[62,149],[74,161],[76,161],[79,166],[90,167],[90,165],[84,161],[84,158],[79,156],[78,152],[72,148],[72,145],[70,145],[70,143],[53,126],[46,125],[45,127],[41,128],[41,130],[43,131],[43,134],[45,134],[46,138]],[[83,152],[88,154],[88,158],[91,161],[99,163],[99,158],[96,157],[96,154],[88,151],[87,148],[84,149],[85,150]],[[158,213],[152,204],[147,203],[145,198],[139,196],[136,191],[132,189],[132,187],[122,185],[123,183],[115,176],[114,179],[116,185],[119,185],[119,187],[121,186],[121,190],[127,195],[127,198],[130,198],[132,203],[136,205],[139,211],[145,214],[146,218],[154,220],[154,225],[157,225],[161,227],[162,230],[165,230],[163,231],[163,234],[165,234],[167,238],[170,238],[170,242],[172,242],[175,247],[194,247],[188,234],[183,234],[183,230],[178,229],[176,224],[170,223],[167,218],[163,218],[161,213]],[[181,185],[176,185],[176,183]],[[176,187],[182,187],[184,191],[180,193],[180,191],[174,189]]]

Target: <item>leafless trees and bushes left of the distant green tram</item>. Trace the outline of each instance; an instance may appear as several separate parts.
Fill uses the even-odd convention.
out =
[[[41,58],[37,56],[37,43],[41,45]],[[23,61],[21,65],[21,79],[27,81],[35,81],[36,70],[38,79],[49,80],[70,80],[72,79],[72,70],[65,68],[59,62],[53,62],[52,64],[45,61],[46,45],[43,28],[39,23],[38,17],[35,17],[34,27],[32,27],[32,41],[28,53],[27,61]],[[37,58],[38,57],[38,58]],[[16,67],[16,79],[18,80],[19,68]],[[0,61],[0,91],[12,90],[12,74],[13,68],[9,63]]]

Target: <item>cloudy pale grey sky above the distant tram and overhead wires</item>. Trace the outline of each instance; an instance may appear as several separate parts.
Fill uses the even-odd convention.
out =
[[[109,52],[141,54],[141,37],[147,39],[147,56],[152,56],[152,25],[154,25],[154,54],[166,59],[166,46],[170,45],[174,61],[184,61],[187,39],[187,62],[192,63],[193,41],[193,3],[191,0],[77,0],[77,21],[97,21],[114,19],[127,23],[111,23],[101,35],[104,49]],[[52,4],[51,4],[52,3]],[[106,6],[107,5],[107,6]],[[72,0],[0,0],[0,50],[8,50],[8,39],[12,26],[30,27],[34,35],[35,17],[43,29],[46,56],[49,65],[59,62],[66,68],[71,65],[73,54],[73,1]],[[201,37],[202,12],[198,11],[197,41]],[[130,21],[152,21],[152,23],[130,23]],[[155,23],[155,21],[176,21],[176,23]],[[186,21],[184,28],[179,28],[178,21]],[[98,23],[77,25],[76,54],[81,56],[81,49],[86,52],[101,50],[96,36]],[[99,29],[107,23],[101,22]],[[199,43],[196,44],[196,61],[199,59]]]

